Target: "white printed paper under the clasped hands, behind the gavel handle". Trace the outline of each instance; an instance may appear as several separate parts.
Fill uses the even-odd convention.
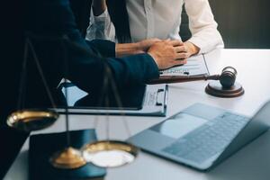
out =
[[[197,55],[187,59],[187,63],[182,66],[168,68],[160,71],[160,76],[193,76],[209,75],[208,67],[204,55]]]

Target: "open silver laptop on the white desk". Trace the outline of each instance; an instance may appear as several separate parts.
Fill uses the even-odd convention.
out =
[[[128,141],[159,157],[209,170],[269,128],[270,101],[251,118],[195,103]]]

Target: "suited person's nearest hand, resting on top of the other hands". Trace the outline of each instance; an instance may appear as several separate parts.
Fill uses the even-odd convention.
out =
[[[166,69],[186,63],[187,53],[180,40],[163,40],[153,44],[148,54],[154,58],[159,69]]]

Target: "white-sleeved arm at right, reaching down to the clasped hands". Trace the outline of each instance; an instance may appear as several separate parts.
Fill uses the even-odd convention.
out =
[[[199,48],[199,53],[224,47],[208,0],[187,0],[185,1],[185,10],[189,17],[190,30],[192,32],[192,38],[187,40],[185,44]]]

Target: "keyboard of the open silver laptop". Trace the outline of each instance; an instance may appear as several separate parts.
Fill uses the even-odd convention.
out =
[[[246,117],[225,112],[162,150],[176,157],[202,163],[226,148],[246,124]]]

